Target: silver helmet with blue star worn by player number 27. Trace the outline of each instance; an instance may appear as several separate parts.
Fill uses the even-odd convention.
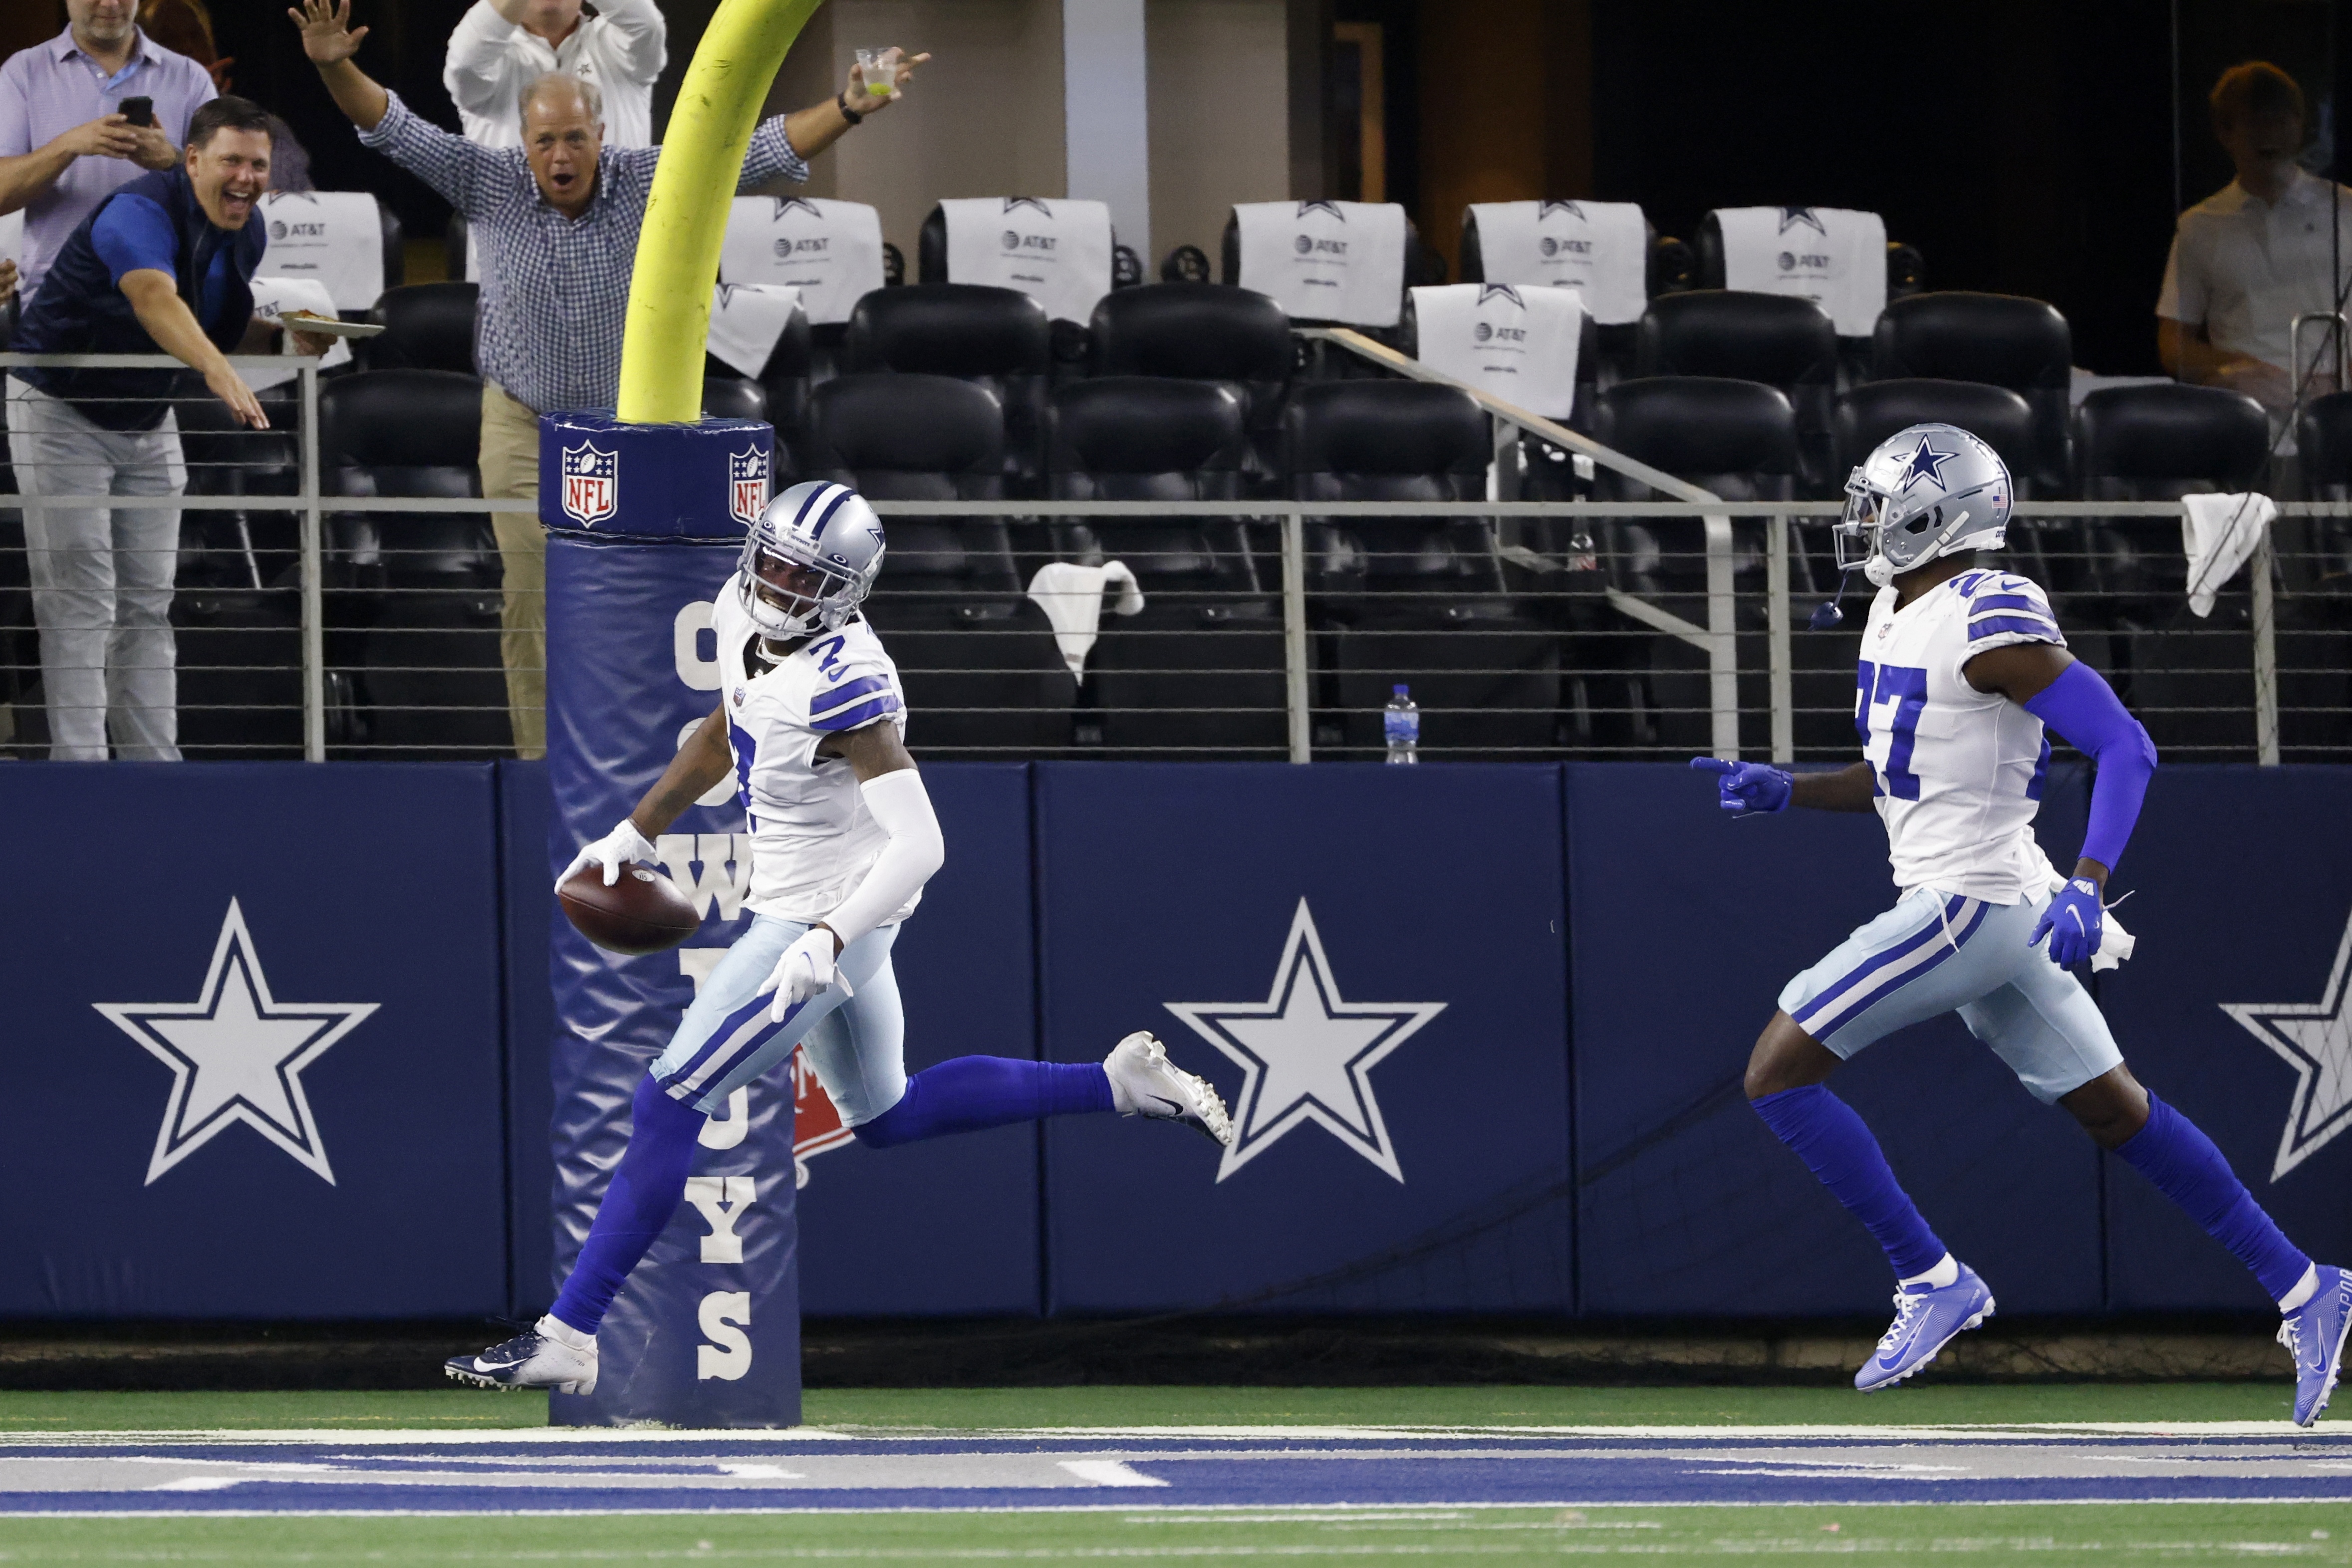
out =
[[[2013,494],[2009,465],[1959,425],[1896,430],[1846,480],[1837,567],[1886,588],[1938,555],[1999,550]]]

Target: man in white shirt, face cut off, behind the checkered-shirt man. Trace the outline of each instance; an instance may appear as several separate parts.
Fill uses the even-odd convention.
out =
[[[522,89],[560,71],[604,94],[604,146],[654,146],[654,78],[668,26],[654,0],[475,0],[449,33],[442,85],[468,141],[522,146]]]

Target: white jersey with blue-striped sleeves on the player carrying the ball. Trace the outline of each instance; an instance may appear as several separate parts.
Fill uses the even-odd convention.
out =
[[[842,757],[818,757],[816,745],[877,719],[903,736],[906,691],[898,665],[863,618],[818,632],[753,675],[760,632],[743,614],[741,583],[734,574],[720,588],[710,630],[720,644],[736,797],[750,823],[750,898],[743,903],[755,914],[814,924],[840,907],[889,844],[866,811],[858,776]],[[922,893],[889,919],[906,919],[917,903]]]

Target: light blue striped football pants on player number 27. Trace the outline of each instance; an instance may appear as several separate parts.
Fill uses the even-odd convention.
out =
[[[2091,992],[2025,938],[2049,893],[1985,903],[1912,889],[1780,990],[1780,1011],[1839,1058],[1957,1011],[2051,1103],[2124,1063]]]

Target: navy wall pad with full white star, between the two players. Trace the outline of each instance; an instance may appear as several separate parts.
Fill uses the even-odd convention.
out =
[[[1569,1309],[1559,769],[1035,776],[1047,1056],[1152,1030],[1242,1133],[1047,1124],[1049,1307]]]

